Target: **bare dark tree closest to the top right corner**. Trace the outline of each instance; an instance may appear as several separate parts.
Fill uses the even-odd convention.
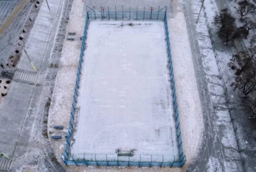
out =
[[[237,11],[239,12],[239,14],[241,16],[240,20],[244,16],[248,15],[249,13],[254,13],[255,12],[255,9],[256,9],[255,5],[251,2],[249,2],[248,0],[240,1],[237,4],[239,6]]]

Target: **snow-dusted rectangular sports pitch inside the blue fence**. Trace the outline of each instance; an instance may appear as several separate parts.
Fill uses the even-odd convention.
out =
[[[84,54],[71,154],[177,157],[164,22],[90,21]]]

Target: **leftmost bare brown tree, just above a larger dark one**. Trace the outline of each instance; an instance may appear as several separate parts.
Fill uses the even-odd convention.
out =
[[[219,14],[216,14],[216,16],[214,17],[213,23],[218,26],[220,25],[219,27],[223,28],[227,25],[233,24],[235,20],[236,19],[230,15],[228,9],[225,8],[225,9],[222,9]]]

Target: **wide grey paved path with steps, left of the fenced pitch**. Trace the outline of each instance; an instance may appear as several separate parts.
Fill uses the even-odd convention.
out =
[[[43,155],[36,160],[33,159],[34,162],[37,161],[37,164],[43,164],[38,168],[45,167],[47,171],[56,171],[56,167],[52,164],[53,159],[51,159],[53,153],[47,146],[49,145],[48,139],[42,135],[42,130],[45,130],[42,128],[42,113],[44,113],[45,105],[37,105],[42,103],[40,101],[44,101],[46,97],[46,94],[42,94],[43,83],[47,79],[48,60],[51,57],[64,3],[63,0],[48,0],[48,2],[51,12],[44,1],[26,45],[28,55],[34,62],[38,73],[35,74],[23,53],[17,66],[16,79],[12,80],[6,100],[0,109],[0,137],[4,138],[0,140],[0,150],[4,150],[4,153],[12,158],[11,169],[17,170],[25,165],[27,160],[31,160],[31,156],[34,155],[30,156],[26,152],[35,147],[36,150],[32,152],[36,156]],[[43,98],[39,98],[40,96]],[[38,110],[37,107],[41,109]],[[39,145],[29,146],[31,143]],[[43,144],[45,145],[42,146]]]

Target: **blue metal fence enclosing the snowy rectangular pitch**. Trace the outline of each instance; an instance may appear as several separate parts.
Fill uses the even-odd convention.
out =
[[[169,32],[168,32],[168,23],[167,23],[167,16],[166,16],[166,7],[164,12],[164,17],[159,17],[162,15],[159,15],[160,11],[162,9],[158,8],[157,15],[153,15],[153,11],[147,11],[150,14],[150,18],[152,20],[163,20],[165,23],[165,34],[166,34],[166,42],[167,42],[167,52],[168,52],[168,62],[170,64],[170,76],[171,76],[171,83],[172,83],[172,97],[173,97],[173,106],[174,106],[174,112],[175,112],[175,121],[176,121],[176,130],[177,130],[177,137],[178,137],[178,147],[179,147],[179,157],[173,157],[169,158],[168,156],[159,155],[159,156],[141,156],[137,158],[138,161],[135,161],[135,158],[131,158],[129,156],[127,157],[121,157],[118,156],[111,157],[111,155],[103,155],[106,156],[106,160],[102,161],[103,158],[98,156],[102,155],[83,155],[83,156],[77,156],[74,157],[74,155],[70,155],[70,145],[71,145],[71,137],[72,137],[72,128],[73,128],[73,122],[74,122],[74,115],[75,115],[75,107],[77,102],[77,96],[78,96],[78,89],[79,89],[79,82],[80,82],[80,74],[81,74],[81,68],[82,68],[82,61],[84,56],[84,46],[86,41],[86,33],[87,28],[89,24],[89,19],[97,19],[97,12],[91,9],[91,15],[89,12],[87,12],[86,20],[85,20],[85,27],[84,27],[84,34],[82,37],[82,46],[81,46],[81,52],[80,52],[80,58],[79,58],[79,65],[77,69],[77,75],[76,75],[76,81],[75,81],[75,89],[74,89],[74,95],[73,95],[73,102],[71,106],[71,113],[70,113],[70,122],[68,126],[68,132],[66,136],[66,146],[65,146],[65,152],[62,154],[61,158],[63,162],[66,165],[97,165],[97,166],[179,166],[182,167],[186,161],[186,156],[183,153],[183,146],[182,146],[182,138],[181,138],[181,129],[180,129],[180,121],[179,121],[179,111],[178,111],[178,105],[177,105],[177,97],[176,97],[176,89],[175,89],[175,82],[174,82],[174,73],[173,73],[173,65],[172,65],[172,56],[171,56],[171,48],[170,48],[170,38],[169,38]],[[101,7],[102,9],[102,7]],[[145,9],[145,8],[144,8]],[[160,11],[159,11],[160,10]],[[103,10],[104,11],[104,10]],[[101,10],[101,12],[103,13]],[[129,11],[128,16],[127,12],[122,10],[121,16],[122,18],[117,17],[117,11],[114,11],[115,15],[111,16],[111,12],[108,11],[108,16],[103,18],[103,14],[100,14],[102,16],[100,19],[145,19],[145,14],[147,13],[145,10],[142,12],[136,11],[136,17],[134,17],[134,14]],[[138,16],[138,14],[140,14]],[[141,16],[143,15],[143,17]],[[154,16],[154,18],[152,18]],[[127,18],[128,17],[128,18]],[[167,157],[167,158],[166,158]],[[98,160],[97,160],[98,159]]]

